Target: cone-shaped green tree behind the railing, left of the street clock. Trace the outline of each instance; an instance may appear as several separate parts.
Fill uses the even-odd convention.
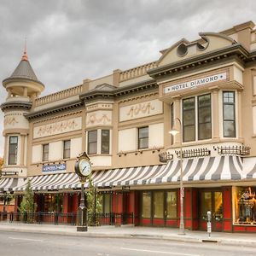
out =
[[[31,213],[35,212],[37,207],[37,204],[34,202],[34,193],[32,191],[31,182],[28,180],[26,183],[25,195],[23,195],[20,207],[18,208],[22,213]]]

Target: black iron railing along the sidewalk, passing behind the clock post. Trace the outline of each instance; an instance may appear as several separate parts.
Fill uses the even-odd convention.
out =
[[[26,224],[78,224],[77,212],[0,212],[0,222],[22,222]],[[87,214],[89,226],[133,224],[131,213],[89,213]]]

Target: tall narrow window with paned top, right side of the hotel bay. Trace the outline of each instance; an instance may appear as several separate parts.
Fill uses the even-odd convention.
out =
[[[223,130],[224,137],[236,137],[235,92],[223,92]]]

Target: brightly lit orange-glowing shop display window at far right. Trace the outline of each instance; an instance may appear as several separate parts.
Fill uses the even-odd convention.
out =
[[[237,187],[235,196],[235,224],[256,224],[256,187]]]

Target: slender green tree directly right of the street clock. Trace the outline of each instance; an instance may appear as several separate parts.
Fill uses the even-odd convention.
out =
[[[86,207],[88,213],[88,222],[89,224],[99,225],[99,218],[97,213],[102,212],[102,204],[99,196],[96,194],[96,188],[93,185],[91,177],[89,177],[89,189],[85,192],[86,196]],[[96,213],[96,221],[94,221]]]

